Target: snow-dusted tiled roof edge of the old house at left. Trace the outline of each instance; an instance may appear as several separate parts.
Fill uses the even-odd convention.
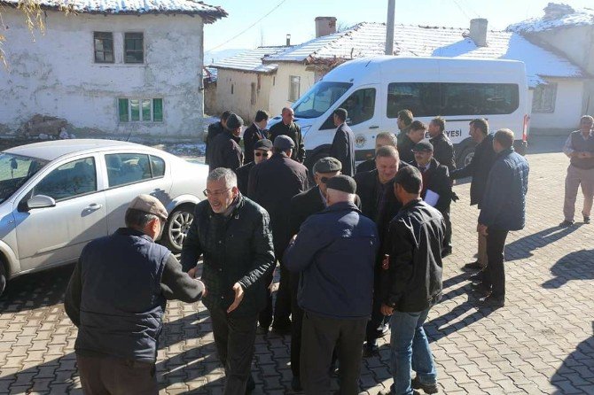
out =
[[[16,7],[20,0],[0,0],[0,4]],[[66,9],[80,13],[102,14],[143,14],[143,13],[184,13],[199,15],[205,23],[228,14],[223,8],[204,4],[195,0],[39,0],[36,2],[44,10]]]

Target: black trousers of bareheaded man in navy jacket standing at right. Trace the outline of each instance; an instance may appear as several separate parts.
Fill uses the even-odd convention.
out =
[[[509,230],[488,228],[487,235],[487,270],[483,274],[483,283],[491,286],[493,298],[505,297],[504,248]]]

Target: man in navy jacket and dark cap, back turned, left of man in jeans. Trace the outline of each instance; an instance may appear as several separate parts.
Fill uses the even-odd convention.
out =
[[[379,237],[375,223],[355,205],[355,194],[356,182],[348,175],[330,178],[327,207],[303,222],[285,252],[286,267],[301,274],[301,383],[307,394],[329,393],[337,345],[340,393],[359,393]]]

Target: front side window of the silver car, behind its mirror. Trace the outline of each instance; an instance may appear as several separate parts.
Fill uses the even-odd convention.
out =
[[[85,158],[68,162],[52,170],[35,185],[33,195],[47,195],[56,201],[97,191],[95,159]]]

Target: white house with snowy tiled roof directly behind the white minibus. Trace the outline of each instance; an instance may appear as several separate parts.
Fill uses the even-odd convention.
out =
[[[322,35],[307,43],[262,57],[262,65],[274,69],[276,81],[270,89],[268,108],[280,109],[307,91],[334,66],[352,58],[383,55],[386,25],[359,23],[345,31]],[[590,78],[570,59],[535,43],[522,35],[487,29],[486,19],[473,19],[471,28],[396,25],[395,56],[501,58],[521,60],[526,64],[529,98],[539,86],[555,84],[556,103],[541,112],[542,97],[534,100],[531,130],[537,128],[573,128],[582,113],[584,81]],[[216,66],[216,65],[215,65]],[[226,81],[218,89],[228,89]]]

